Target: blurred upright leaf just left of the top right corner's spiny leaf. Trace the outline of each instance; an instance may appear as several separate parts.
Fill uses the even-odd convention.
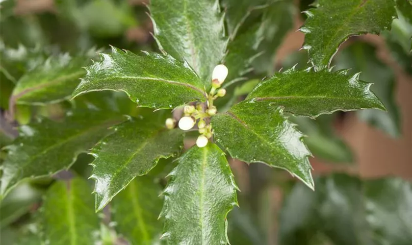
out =
[[[283,37],[292,29],[296,12],[293,0],[274,1],[264,10],[259,30],[264,39],[258,49],[262,55],[254,61],[257,73],[273,74],[275,53],[282,44]]]

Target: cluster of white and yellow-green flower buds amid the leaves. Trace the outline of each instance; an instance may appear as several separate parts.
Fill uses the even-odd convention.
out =
[[[220,88],[222,83],[228,76],[228,68],[225,65],[218,65],[212,73],[212,88],[208,94],[206,106],[204,103],[194,105],[185,105],[183,108],[184,116],[179,120],[179,128],[181,130],[190,130],[196,123],[200,133],[196,140],[198,147],[205,147],[210,138],[213,136],[212,125],[207,123],[211,116],[216,115],[217,109],[213,105],[213,100],[226,95],[226,90]],[[206,108],[205,108],[206,107]],[[169,118],[166,120],[166,127],[172,129],[176,126],[176,120]]]

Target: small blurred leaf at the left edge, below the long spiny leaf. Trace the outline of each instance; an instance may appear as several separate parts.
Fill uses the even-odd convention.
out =
[[[28,213],[32,205],[40,201],[41,192],[24,183],[17,186],[0,203],[0,228]]]

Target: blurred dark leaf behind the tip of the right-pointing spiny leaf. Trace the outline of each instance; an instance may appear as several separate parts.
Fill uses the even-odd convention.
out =
[[[343,49],[336,55],[337,69],[348,69],[350,73],[360,73],[360,79],[373,82],[372,91],[381,99],[387,112],[362,110],[357,112],[360,119],[375,125],[392,137],[401,135],[399,109],[394,98],[395,77],[392,70],[376,56],[375,47],[358,42]]]

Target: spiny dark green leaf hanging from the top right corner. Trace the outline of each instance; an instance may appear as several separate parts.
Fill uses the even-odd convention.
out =
[[[329,66],[340,44],[350,36],[389,29],[396,17],[393,0],[317,0],[307,11],[300,30],[305,33],[304,49],[316,70]]]

